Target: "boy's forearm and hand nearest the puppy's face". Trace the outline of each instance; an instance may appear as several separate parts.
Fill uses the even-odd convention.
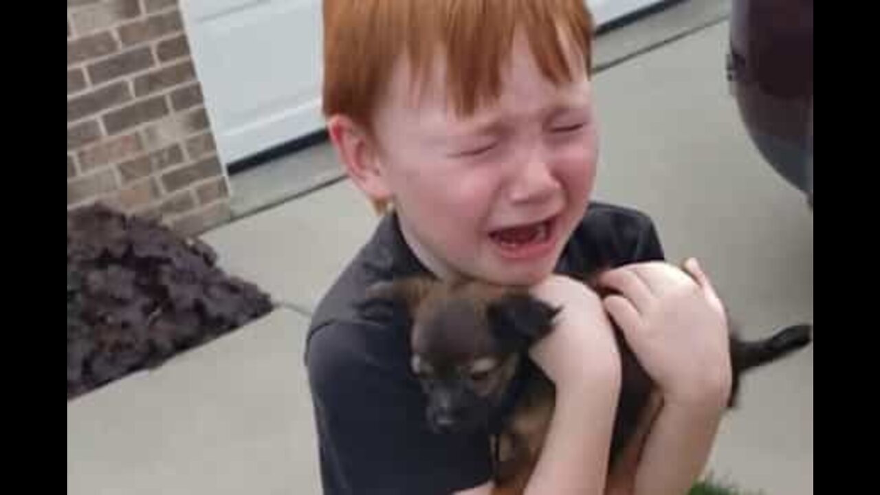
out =
[[[554,331],[532,347],[532,358],[554,381],[557,395],[542,454],[524,493],[600,495],[620,393],[620,355],[611,322],[601,299],[568,277],[549,277],[533,292],[562,310]],[[488,484],[464,493],[502,491]]]

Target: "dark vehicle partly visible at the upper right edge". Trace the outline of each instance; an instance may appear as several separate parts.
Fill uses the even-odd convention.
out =
[[[813,0],[733,0],[728,78],[766,161],[813,206]]]

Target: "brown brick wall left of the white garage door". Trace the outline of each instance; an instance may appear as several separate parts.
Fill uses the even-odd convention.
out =
[[[201,233],[231,217],[178,0],[68,0],[67,208]]]

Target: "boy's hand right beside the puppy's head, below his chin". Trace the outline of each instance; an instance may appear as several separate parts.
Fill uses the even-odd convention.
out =
[[[532,346],[535,363],[561,390],[620,388],[620,352],[612,323],[596,292],[573,278],[552,275],[532,295],[561,307],[554,330]],[[576,388],[582,388],[576,390]]]

